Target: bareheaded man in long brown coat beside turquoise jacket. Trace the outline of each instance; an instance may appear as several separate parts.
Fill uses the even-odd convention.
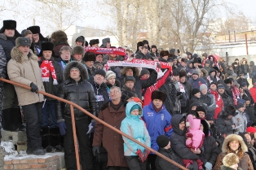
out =
[[[99,111],[98,118],[114,126],[117,129],[121,127],[121,121],[126,118],[126,107],[121,101],[121,89],[117,86],[110,88],[111,101],[104,104]],[[95,134],[93,139],[93,153],[99,153],[101,144],[108,151],[109,170],[121,169],[128,170],[126,157],[124,155],[124,141],[121,134],[96,122]]]

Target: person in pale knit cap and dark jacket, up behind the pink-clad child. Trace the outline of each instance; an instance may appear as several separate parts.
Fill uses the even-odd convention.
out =
[[[214,115],[214,110],[216,108],[216,103],[214,99],[214,95],[208,92],[208,88],[205,84],[200,85],[201,97],[200,101],[203,106],[206,108],[207,113]]]

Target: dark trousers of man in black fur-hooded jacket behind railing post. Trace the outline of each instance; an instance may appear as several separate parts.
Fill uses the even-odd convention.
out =
[[[64,136],[64,157],[68,170],[77,170],[75,146],[73,141],[73,128],[70,118],[65,118],[66,134]],[[76,120],[77,140],[79,143],[82,170],[92,170],[92,150],[88,132],[89,122],[87,119]]]

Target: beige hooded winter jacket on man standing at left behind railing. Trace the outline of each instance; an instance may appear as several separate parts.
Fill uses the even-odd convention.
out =
[[[29,54],[24,54],[19,48],[13,47],[11,59],[7,63],[7,72],[11,81],[30,86],[33,82],[38,86],[38,90],[44,91],[42,84],[41,69],[38,65],[38,56],[29,50]],[[42,94],[32,93],[29,89],[15,86],[20,106],[43,101]]]

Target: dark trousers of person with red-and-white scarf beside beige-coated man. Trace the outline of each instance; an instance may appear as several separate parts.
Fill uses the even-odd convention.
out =
[[[42,107],[42,127],[59,128],[55,114],[55,100],[46,100]]]

